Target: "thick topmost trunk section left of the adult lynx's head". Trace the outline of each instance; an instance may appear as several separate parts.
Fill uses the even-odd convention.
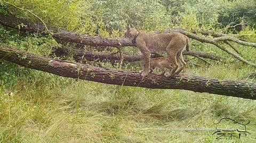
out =
[[[3,24],[8,27],[16,28],[21,31],[28,32],[39,32],[42,35],[47,35],[49,32],[45,29],[43,24],[35,24],[25,20],[21,20],[15,18],[14,16],[4,16],[0,14],[0,24]],[[18,25],[24,24],[26,27],[18,27]],[[101,37],[93,37],[85,34],[78,34],[75,32],[57,29],[51,26],[47,26],[48,30],[51,31],[52,36],[57,40],[63,42],[71,42],[82,45],[91,45],[91,46],[111,46],[111,47],[123,47],[123,46],[136,46],[132,43],[131,40],[127,38],[121,39],[110,39],[110,38],[101,38]]]

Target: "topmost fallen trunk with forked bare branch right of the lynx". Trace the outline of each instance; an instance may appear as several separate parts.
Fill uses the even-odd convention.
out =
[[[17,26],[19,24],[25,24],[27,25],[26,27],[20,27],[19,30],[22,31],[29,31],[29,32],[40,32],[42,34],[47,34],[45,26],[42,24],[33,24],[24,20],[20,20],[18,18],[15,18],[13,16],[4,16],[0,14],[0,23],[4,24],[5,26],[9,26],[12,28],[18,28]],[[53,37],[60,40],[60,41],[65,41],[65,42],[72,42],[72,43],[77,43],[77,44],[82,44],[82,45],[91,45],[91,46],[112,46],[112,47],[123,47],[123,46],[136,46],[131,42],[131,40],[126,39],[126,38],[121,38],[121,39],[110,39],[110,38],[101,38],[101,37],[92,37],[90,35],[83,35],[83,34],[77,34],[75,32],[71,31],[66,31],[66,30],[61,30],[57,28],[53,28],[51,26],[47,26],[49,31],[51,31],[53,34]],[[218,48],[222,49],[223,51],[227,52],[230,55],[233,55],[235,58],[238,60],[250,64],[253,66],[256,66],[256,64],[245,60],[242,56],[235,54],[234,52],[229,51],[226,47],[222,46],[220,44],[220,41],[226,41],[226,40],[231,40],[231,41],[237,41],[233,37],[230,36],[222,36],[222,37],[217,37],[217,38],[209,38],[205,36],[198,36],[195,33],[188,32],[186,30],[182,29],[172,29],[170,31],[173,32],[180,32],[184,35],[187,35],[190,38],[193,38],[195,40],[204,42],[204,43],[209,43],[217,46]],[[165,32],[170,32],[170,31],[165,31]],[[239,41],[242,45],[248,45],[248,46],[256,46],[255,43],[248,43],[246,41]]]

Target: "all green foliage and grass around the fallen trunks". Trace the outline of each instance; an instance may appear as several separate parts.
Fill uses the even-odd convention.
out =
[[[150,32],[175,27],[186,30],[214,29],[237,34],[237,37],[256,43],[256,4],[253,0],[246,3],[227,0],[8,2],[33,12],[46,24],[93,36],[122,37],[127,24],[131,24],[141,31]],[[2,1],[0,13],[38,21],[28,12]],[[255,71],[252,66],[234,60],[212,45],[195,40],[190,43],[193,51],[210,52],[227,57],[227,60],[207,60],[213,64],[211,66],[186,56],[189,62],[183,73],[256,81],[246,77]],[[51,36],[23,33],[1,25],[0,44],[45,56],[60,46]],[[256,63],[255,48],[236,46],[243,57]],[[103,52],[114,53],[116,50],[106,49]],[[125,48],[124,53],[140,54],[134,47]],[[67,59],[73,61],[70,57]],[[118,63],[114,66],[110,62],[88,64],[120,70]],[[139,69],[139,63],[125,63],[122,66],[122,70]],[[95,74],[89,76],[94,77]],[[214,131],[159,131],[175,128],[214,129],[214,123],[222,117],[242,123],[251,121],[247,125],[247,131],[251,134],[241,139],[236,134],[232,139],[226,136],[217,140],[215,138],[218,136],[212,135]],[[186,90],[106,85],[63,78],[0,60],[0,142],[255,142],[255,118],[254,100]],[[225,121],[221,128],[233,129],[237,128],[237,124]]]

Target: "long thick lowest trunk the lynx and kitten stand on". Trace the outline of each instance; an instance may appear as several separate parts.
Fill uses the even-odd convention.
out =
[[[90,65],[53,60],[49,57],[4,45],[0,45],[0,58],[30,69],[111,85],[153,89],[185,89],[195,92],[209,92],[212,94],[256,99],[256,84],[250,82],[220,80],[187,74],[174,74],[172,78],[149,74],[143,78],[138,72],[112,71]]]

